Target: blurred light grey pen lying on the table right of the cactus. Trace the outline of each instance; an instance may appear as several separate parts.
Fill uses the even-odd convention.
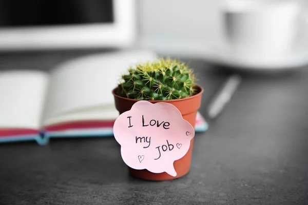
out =
[[[239,75],[230,76],[226,83],[222,86],[219,92],[214,96],[208,106],[208,116],[210,118],[215,118],[221,113],[225,105],[230,101],[232,95],[238,88],[241,82],[241,77]]]

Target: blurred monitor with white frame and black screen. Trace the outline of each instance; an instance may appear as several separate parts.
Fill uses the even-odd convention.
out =
[[[0,0],[0,50],[130,46],[135,0]]]

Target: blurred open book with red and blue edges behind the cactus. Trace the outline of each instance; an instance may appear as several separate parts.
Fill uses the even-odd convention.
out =
[[[72,59],[49,72],[0,72],[0,142],[113,136],[119,112],[112,89],[129,66],[155,58],[149,51],[119,51]],[[198,113],[196,132],[206,129]]]

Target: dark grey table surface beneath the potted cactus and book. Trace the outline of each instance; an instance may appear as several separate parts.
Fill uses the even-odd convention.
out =
[[[0,54],[0,69],[51,69],[83,52]],[[88,53],[86,53],[88,54]],[[187,59],[204,87],[200,112],[232,72]],[[114,138],[0,145],[0,204],[308,204],[308,69],[242,73],[190,172],[171,181],[128,175]]]

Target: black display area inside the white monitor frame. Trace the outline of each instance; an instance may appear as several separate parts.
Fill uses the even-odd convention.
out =
[[[0,0],[0,27],[113,23],[112,0]]]

